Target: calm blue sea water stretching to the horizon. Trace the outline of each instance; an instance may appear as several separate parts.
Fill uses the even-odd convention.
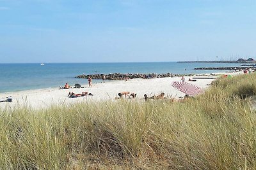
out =
[[[68,82],[87,84],[86,79],[74,78],[79,74],[108,73],[217,73],[223,71],[194,70],[195,67],[240,66],[230,63],[59,63],[59,64],[0,64],[0,92],[58,87]],[[186,69],[186,70],[185,70]],[[101,80],[93,80],[93,83]]]

